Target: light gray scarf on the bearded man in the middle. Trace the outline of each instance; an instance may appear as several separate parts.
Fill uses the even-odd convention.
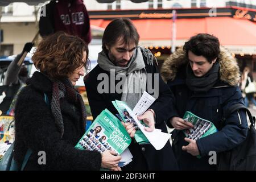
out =
[[[98,55],[98,65],[105,71],[114,71],[119,76],[125,77],[121,101],[125,101],[131,109],[137,104],[143,92],[146,90],[147,72],[143,56],[149,65],[153,65],[154,56],[148,49],[137,47],[127,67],[118,67],[109,60],[104,51]],[[113,86],[113,85],[112,85]]]

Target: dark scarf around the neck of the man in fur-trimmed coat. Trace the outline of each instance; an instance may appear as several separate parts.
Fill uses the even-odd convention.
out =
[[[196,77],[191,69],[191,66],[187,65],[187,78],[186,84],[193,92],[207,92],[210,88],[216,84],[218,80],[218,71],[220,70],[220,64],[214,63],[212,68],[203,77]]]

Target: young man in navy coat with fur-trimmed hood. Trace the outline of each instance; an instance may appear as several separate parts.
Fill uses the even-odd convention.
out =
[[[221,122],[230,106],[243,104],[236,59],[220,48],[215,36],[198,34],[165,61],[161,73],[176,98],[176,109],[169,113],[167,125],[175,128],[172,148],[179,168],[216,170],[217,165],[210,165],[216,156],[210,159],[214,156],[209,156],[209,152],[215,151],[218,156],[238,146],[247,135],[244,110],[230,114],[225,123]],[[211,121],[218,132],[204,138],[185,138],[181,130],[193,127],[182,119],[185,111]]]

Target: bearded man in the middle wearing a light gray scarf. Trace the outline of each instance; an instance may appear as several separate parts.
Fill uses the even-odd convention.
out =
[[[84,80],[92,115],[96,118],[105,108],[113,114],[117,113],[112,104],[114,100],[125,101],[133,109],[146,91],[156,101],[138,119],[146,123],[146,131],[156,127],[167,133],[164,121],[166,113],[171,110],[169,105],[172,104],[173,95],[159,76],[153,63],[155,57],[148,49],[138,46],[138,42],[138,32],[130,19],[115,19],[106,27],[98,65]],[[127,122],[124,126],[133,138],[136,131],[133,123]],[[170,142],[162,150],[156,151],[151,144],[138,144],[133,140],[129,150],[133,162],[123,170],[177,169]]]

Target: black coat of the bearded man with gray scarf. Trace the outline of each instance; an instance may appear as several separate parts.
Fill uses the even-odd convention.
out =
[[[146,72],[158,73],[155,65],[148,65],[147,61],[144,61],[146,65]],[[92,110],[93,118],[101,113],[102,110],[108,109],[113,114],[118,113],[112,104],[114,100],[121,100],[121,93],[98,93],[97,85],[101,80],[97,80],[100,73],[105,73],[110,78],[110,73],[104,71],[97,65],[84,79],[86,92],[89,100],[89,105]],[[154,80],[154,79],[153,79]],[[115,85],[118,81],[115,82]],[[154,83],[152,83],[154,84]],[[153,87],[154,88],[154,87]],[[110,89],[110,80],[109,80]],[[168,107],[172,103],[172,93],[168,86],[163,82],[159,75],[159,97],[158,100],[152,104],[150,109],[153,109],[156,113],[155,127],[161,129],[167,133],[166,123],[164,122],[168,112],[171,108]],[[130,144],[129,150],[133,155],[133,162],[123,167],[123,170],[176,170],[177,164],[172,152],[170,142],[166,143],[166,146],[162,150],[156,151],[151,144],[139,145],[134,143]]]

